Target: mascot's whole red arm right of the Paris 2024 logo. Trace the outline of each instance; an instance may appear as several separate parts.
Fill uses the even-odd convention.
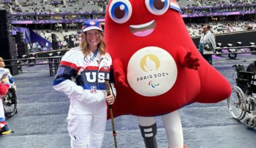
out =
[[[191,51],[179,50],[178,57],[183,67],[187,67],[188,69],[194,69],[195,71],[199,67],[199,59],[192,55]],[[185,55],[185,56],[184,56]]]

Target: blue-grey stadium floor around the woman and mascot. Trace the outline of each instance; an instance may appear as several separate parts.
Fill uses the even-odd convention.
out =
[[[256,60],[255,54],[238,54],[227,60],[227,55],[214,56],[214,67],[234,85],[234,64],[248,65]],[[14,133],[0,136],[4,148],[66,148],[70,147],[67,133],[68,98],[52,87],[53,76],[48,65],[23,67],[24,73],[15,75],[18,88],[19,112],[7,122]],[[188,148],[238,148],[256,147],[256,131],[234,120],[226,100],[218,104],[191,104],[180,110],[184,141]],[[156,117],[158,147],[167,147],[162,120]],[[115,118],[117,143],[121,148],[143,148],[135,116]],[[114,147],[112,126],[107,122],[102,147]]]

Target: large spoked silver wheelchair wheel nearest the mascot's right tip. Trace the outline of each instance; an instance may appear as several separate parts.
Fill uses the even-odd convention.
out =
[[[245,94],[238,86],[232,87],[232,94],[228,97],[228,110],[236,120],[242,120],[247,113]]]

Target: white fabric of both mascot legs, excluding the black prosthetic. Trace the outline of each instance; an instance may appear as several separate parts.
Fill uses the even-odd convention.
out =
[[[183,129],[181,126],[181,117],[176,110],[162,116],[164,128],[167,134],[169,147],[183,148]],[[154,117],[138,116],[139,125],[151,126],[156,122]]]

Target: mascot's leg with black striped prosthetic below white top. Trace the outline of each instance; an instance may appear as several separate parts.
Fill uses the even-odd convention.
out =
[[[138,116],[139,128],[144,139],[146,148],[157,148],[156,143],[156,120],[154,117]]]

